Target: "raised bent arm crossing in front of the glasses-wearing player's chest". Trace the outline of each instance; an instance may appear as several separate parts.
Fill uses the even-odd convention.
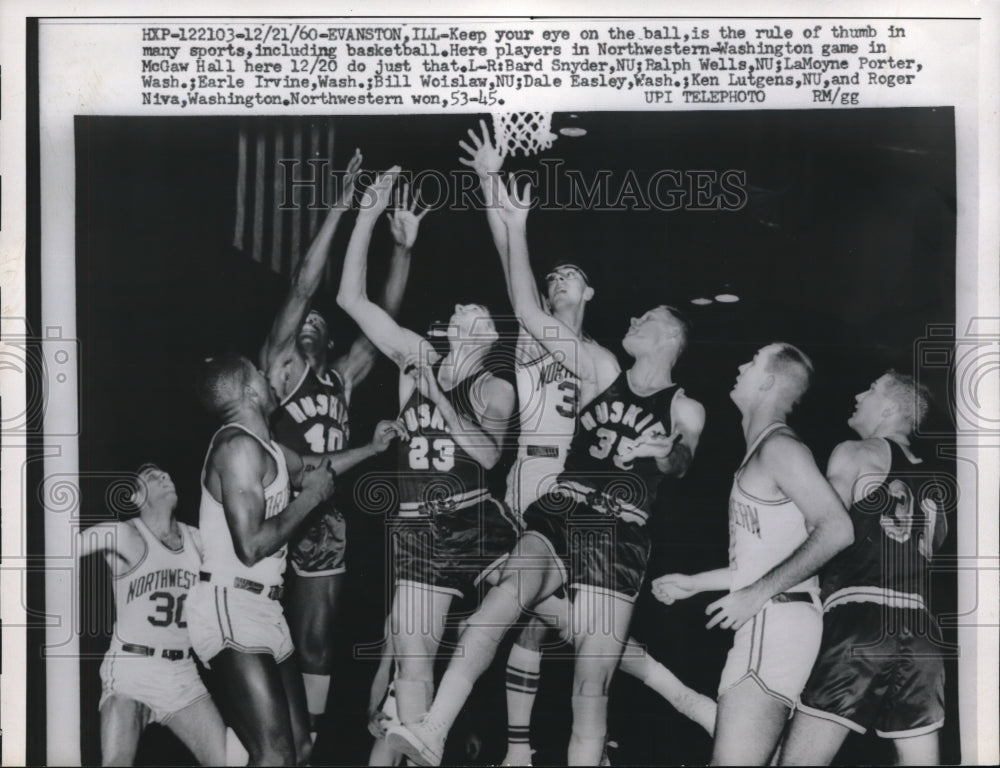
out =
[[[510,265],[511,303],[517,319],[546,351],[562,359],[563,366],[581,380],[596,382],[597,359],[601,348],[596,344],[585,344],[576,332],[565,323],[545,312],[542,308],[535,277],[531,272],[528,257],[528,209],[531,207],[531,185],[526,184],[519,195],[515,181],[511,180],[510,191],[497,185],[497,196],[503,207],[504,222],[507,225],[507,250]],[[555,333],[553,334],[553,329]],[[566,355],[566,340],[577,339],[575,354]],[[608,353],[610,354],[610,353]]]

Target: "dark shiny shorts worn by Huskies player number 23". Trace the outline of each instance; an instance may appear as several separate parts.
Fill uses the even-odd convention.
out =
[[[390,527],[396,583],[462,597],[507,559],[520,534],[493,498],[457,510],[396,517]]]

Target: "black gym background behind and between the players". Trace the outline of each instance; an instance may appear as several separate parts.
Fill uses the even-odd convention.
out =
[[[195,402],[193,367],[222,350],[256,359],[287,290],[285,278],[232,246],[237,135],[252,122],[76,122],[81,473],[128,472],[155,461],[173,476],[178,514],[191,523],[197,522],[198,475],[215,428]],[[613,192],[628,171],[643,186],[659,169],[746,173],[748,198],[738,211],[633,206],[545,210],[529,217],[536,267],[570,258],[588,271],[597,295],[586,328],[601,343],[623,354],[619,342],[628,319],[654,304],[676,304],[693,319],[692,344],[676,377],[705,405],[707,423],[692,471],[667,489],[652,523],[649,576],[719,567],[726,562],[731,475],[744,448],[739,414],[728,399],[737,365],[773,340],[797,344],[812,357],[815,384],[792,423],[824,467],[833,446],[854,436],[845,424],[854,394],[889,367],[913,371],[928,326],[954,322],[953,113],[582,113],[573,122],[586,127],[587,135],[560,138],[542,157],[562,159],[588,180],[599,169],[609,170]],[[476,125],[474,116],[343,117],[336,124],[335,163],[343,167],[360,147],[366,169],[396,163],[415,173],[462,168],[457,142]],[[537,161],[508,166],[538,167]],[[428,188],[430,197],[433,191]],[[484,219],[475,210],[441,209],[427,216],[402,324],[426,329],[446,318],[456,301],[486,301],[509,311]],[[349,214],[335,239],[335,274],[352,225]],[[373,295],[390,250],[383,223],[371,249]],[[739,303],[689,303],[724,285],[741,297]],[[333,305],[335,288],[323,290],[316,303],[331,318],[343,350],[356,329]],[[946,371],[915,372],[937,396],[932,425],[948,430]],[[355,392],[355,442],[367,440],[374,423],[397,409],[396,370],[383,359]],[[918,446],[924,455],[935,449],[930,440]],[[390,471],[391,460],[367,468]],[[84,515],[105,518],[101,489],[88,488]],[[949,522],[945,546],[953,551],[954,517]],[[376,662],[352,659],[352,648],[381,635],[389,598],[384,519],[355,514],[350,525],[349,597],[338,632],[342,663],[333,676],[330,722],[315,762],[364,762],[370,746],[364,711]],[[82,606],[82,650],[93,657],[83,667],[85,763],[99,759],[97,668],[110,615],[88,606],[106,593],[102,571],[99,563],[88,570]],[[936,578],[934,590],[935,611],[953,608],[952,578]],[[667,608],[646,590],[633,632],[685,682],[714,697],[731,635],[703,628],[704,607],[712,599],[705,595]],[[453,732],[452,748],[461,749],[463,735],[476,731],[485,762],[497,762],[504,753],[504,652],[501,657]],[[953,665],[949,674],[943,757],[957,762]],[[565,761],[570,679],[569,660],[555,654],[546,659],[533,727],[536,764]],[[627,676],[616,679],[610,713],[611,737],[621,745],[612,759],[619,764],[708,759],[708,737]],[[150,729],[140,762],[171,759],[190,761],[172,737]],[[874,738],[851,737],[839,759],[888,762],[891,750]]]

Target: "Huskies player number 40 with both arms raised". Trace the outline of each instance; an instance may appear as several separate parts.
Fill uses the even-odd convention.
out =
[[[278,442],[298,453],[339,453],[338,471],[345,472],[371,453],[366,448],[347,449],[348,406],[351,391],[371,371],[375,348],[360,336],[346,354],[333,357],[326,321],[308,312],[326,270],[330,244],[344,211],[350,208],[354,183],[361,168],[355,150],[347,166],[344,190],[330,209],[305,257],[296,268],[291,289],[278,311],[261,350],[261,364],[278,394],[274,433]],[[410,270],[410,253],[420,220],[405,193],[390,217],[395,238],[382,306],[390,315],[399,311]],[[292,569],[286,600],[292,639],[299,652],[306,688],[311,730],[326,711],[333,665],[333,632],[337,625],[346,547],[344,516],[333,500],[323,513],[310,520],[291,547]]]

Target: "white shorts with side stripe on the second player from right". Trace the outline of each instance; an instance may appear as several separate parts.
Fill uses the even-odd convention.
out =
[[[750,678],[764,693],[794,709],[822,638],[823,612],[818,599],[811,603],[767,603],[736,631],[719,681],[719,695]]]

